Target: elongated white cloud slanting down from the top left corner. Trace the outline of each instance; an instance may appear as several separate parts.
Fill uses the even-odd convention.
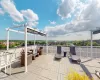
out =
[[[23,15],[16,9],[12,0],[1,0],[0,4],[4,11],[8,13],[14,21],[24,21]]]

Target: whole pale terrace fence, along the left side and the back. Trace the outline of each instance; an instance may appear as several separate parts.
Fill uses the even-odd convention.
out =
[[[40,46],[39,46],[40,47]],[[24,47],[23,47],[24,48]],[[23,48],[15,48],[10,49],[9,52],[13,54],[6,54],[0,51],[0,69],[2,67],[5,67],[7,64],[9,64],[9,60],[12,62],[16,58],[20,57],[21,50]],[[29,46],[28,48],[32,49],[32,46]],[[91,55],[91,47],[90,46],[76,46],[76,55],[80,57],[92,57],[92,58],[100,58],[100,46],[93,46],[92,48],[92,55]],[[62,46],[62,53],[63,52],[70,52],[69,47]],[[43,53],[46,53],[46,46],[43,46]],[[48,54],[55,55],[57,53],[57,46],[48,46]],[[8,62],[6,62],[8,61]],[[5,64],[7,63],[7,64]]]

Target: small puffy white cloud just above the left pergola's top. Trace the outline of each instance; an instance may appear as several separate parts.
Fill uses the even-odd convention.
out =
[[[31,9],[21,10],[21,13],[28,21],[37,21],[38,15],[34,13]]]

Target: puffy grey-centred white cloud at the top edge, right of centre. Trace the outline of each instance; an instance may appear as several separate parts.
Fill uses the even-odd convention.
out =
[[[60,6],[57,9],[57,14],[61,19],[71,18],[73,14],[78,15],[83,10],[84,3],[80,0],[62,0]]]

